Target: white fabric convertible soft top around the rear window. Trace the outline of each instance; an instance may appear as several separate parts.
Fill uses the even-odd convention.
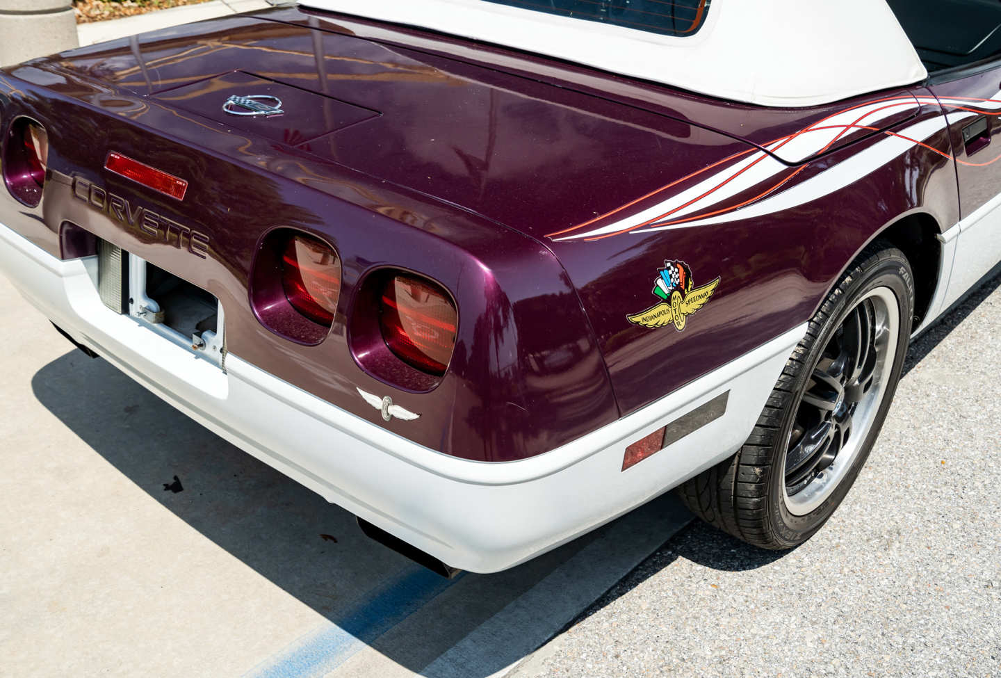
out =
[[[674,37],[485,0],[300,0],[575,61],[711,96],[802,107],[927,76],[885,0],[712,0]]]

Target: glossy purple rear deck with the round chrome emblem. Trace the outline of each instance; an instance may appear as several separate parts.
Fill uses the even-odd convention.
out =
[[[496,63],[487,63],[443,38],[404,35],[385,24],[295,9],[261,17],[267,20],[225,18],[89,47],[63,55],[59,66],[184,111],[199,124],[311,153],[541,241],[624,205],[657,202],[666,186],[701,180],[703,170],[763,145],[773,155],[758,169],[875,133],[799,133],[849,104],[795,116],[759,109],[751,117],[744,108],[663,87],[649,90],[645,103],[636,92],[618,95],[617,87],[638,86],[622,79],[591,73],[606,92],[558,82],[548,75],[552,64],[538,64],[533,76],[512,66],[515,56],[494,50]],[[520,63],[527,68],[524,58]],[[227,103],[234,96],[263,97],[256,101],[272,110],[236,114],[246,109]],[[910,99],[878,105],[878,125],[913,115]],[[842,117],[853,123],[853,114]],[[736,133],[745,120],[754,124]],[[282,153],[279,146],[274,152]],[[754,195],[774,173],[760,180],[742,174],[727,191]]]

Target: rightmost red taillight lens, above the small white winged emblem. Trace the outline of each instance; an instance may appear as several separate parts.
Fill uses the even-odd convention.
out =
[[[443,289],[397,274],[382,287],[379,326],[389,351],[404,363],[443,375],[455,348],[455,306]]]

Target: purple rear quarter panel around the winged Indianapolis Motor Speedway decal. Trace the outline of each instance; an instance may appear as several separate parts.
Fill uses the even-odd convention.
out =
[[[801,128],[822,117],[804,114]],[[914,133],[922,134],[915,141],[927,146],[899,136]],[[877,148],[887,143],[901,149],[889,160]],[[550,246],[591,315],[622,413],[809,319],[858,252],[894,221],[927,213],[943,229],[955,223],[958,198],[950,154],[941,110],[925,104],[886,132],[870,131],[862,140],[789,165],[721,204],[697,210],[694,220],[657,229],[655,224],[637,226],[643,219],[636,219],[633,230],[602,239],[586,236],[690,185],[682,183],[607,219],[552,235]],[[712,173],[724,185],[736,170],[731,163]],[[759,209],[769,199],[775,208]],[[742,218],[750,208],[765,213]],[[713,222],[714,216],[729,220]],[[627,319],[660,300],[651,289],[665,260],[688,263],[697,286],[720,278],[709,302],[688,316],[681,331]]]

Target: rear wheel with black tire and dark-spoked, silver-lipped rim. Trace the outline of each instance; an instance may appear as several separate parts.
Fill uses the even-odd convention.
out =
[[[747,443],[679,488],[689,509],[767,549],[792,548],[817,532],[883,426],[913,306],[907,257],[870,245],[810,321]]]

